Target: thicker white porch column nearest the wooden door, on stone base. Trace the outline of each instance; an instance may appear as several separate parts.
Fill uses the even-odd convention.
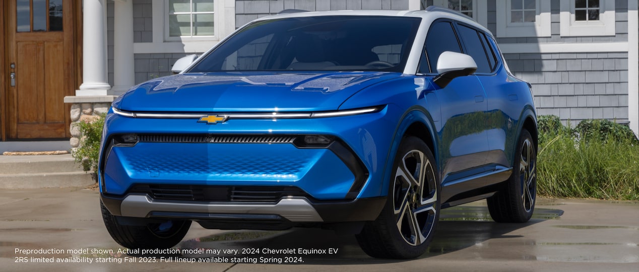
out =
[[[107,0],[83,0],[82,85],[76,96],[107,95]]]

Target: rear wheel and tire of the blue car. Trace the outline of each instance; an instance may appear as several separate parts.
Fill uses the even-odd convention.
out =
[[[525,128],[517,144],[511,177],[504,187],[487,199],[495,222],[523,223],[530,220],[537,198],[537,151]]]

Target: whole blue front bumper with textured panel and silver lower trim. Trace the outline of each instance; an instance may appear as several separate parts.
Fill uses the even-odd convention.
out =
[[[205,125],[189,119],[144,119],[109,114],[98,180],[113,215],[190,220],[354,222],[374,220],[385,204],[383,172],[392,139],[389,107],[370,114],[313,119],[230,120]],[[396,113],[398,114],[398,112]],[[330,135],[325,147],[291,142],[180,142],[140,140],[117,146],[115,135]],[[208,139],[208,138],[207,138]],[[140,185],[189,186],[208,197],[158,197]],[[298,188],[268,201],[220,197],[217,188]],[[180,190],[182,190],[181,188]],[[215,193],[210,193],[215,189]],[[163,189],[162,189],[163,190]],[[248,189],[247,189],[248,190]],[[181,191],[180,191],[181,192]],[[222,193],[220,193],[222,192]],[[230,193],[229,193],[230,194]],[[250,196],[253,197],[253,196]]]

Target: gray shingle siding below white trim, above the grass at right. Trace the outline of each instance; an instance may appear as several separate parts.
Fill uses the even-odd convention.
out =
[[[627,121],[627,53],[504,57],[512,73],[532,84],[538,114],[555,114],[573,123],[592,118]]]

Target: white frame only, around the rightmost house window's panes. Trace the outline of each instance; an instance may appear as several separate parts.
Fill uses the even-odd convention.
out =
[[[574,0],[560,0],[561,36],[615,36],[615,0],[599,1],[599,20],[578,21]]]

